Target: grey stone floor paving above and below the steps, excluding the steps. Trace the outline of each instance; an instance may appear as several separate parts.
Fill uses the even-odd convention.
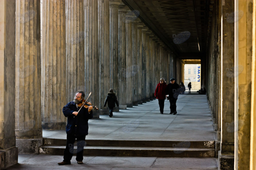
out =
[[[180,95],[177,114],[170,113],[168,100],[160,114],[157,100],[114,112],[113,117],[100,115],[89,120],[86,139],[112,140],[215,140],[206,95]],[[65,131],[43,131],[44,138],[65,139]],[[19,164],[8,169],[218,169],[215,158],[161,158],[161,157],[111,157],[84,156],[84,164],[78,165],[75,157],[71,165],[59,166],[62,155],[19,155]]]

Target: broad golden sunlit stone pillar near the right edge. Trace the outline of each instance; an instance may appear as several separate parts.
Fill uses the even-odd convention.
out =
[[[235,169],[250,169],[252,58],[255,58],[252,56],[252,1],[235,3]],[[243,17],[239,10],[243,11]]]

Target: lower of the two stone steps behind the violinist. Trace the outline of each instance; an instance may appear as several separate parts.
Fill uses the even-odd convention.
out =
[[[63,155],[65,146],[43,145],[39,154]],[[77,152],[74,147],[74,154]],[[192,147],[124,147],[124,146],[85,146],[86,156],[145,156],[145,157],[215,157],[214,148]]]

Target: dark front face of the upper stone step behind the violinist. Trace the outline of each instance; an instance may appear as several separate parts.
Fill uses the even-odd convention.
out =
[[[85,139],[86,146],[128,147],[189,147],[215,148],[215,141],[163,141],[163,140],[92,140]],[[66,139],[43,138],[43,145],[66,146]]]

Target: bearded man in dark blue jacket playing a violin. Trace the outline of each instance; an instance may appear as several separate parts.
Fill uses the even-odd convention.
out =
[[[83,152],[85,145],[85,136],[88,135],[88,119],[93,117],[93,106],[82,106],[85,94],[83,91],[77,91],[72,102],[66,104],[62,111],[65,117],[68,117],[66,126],[67,144],[64,150],[64,160],[59,165],[70,164],[70,160],[74,153],[74,143],[77,141],[76,161],[78,164],[83,164]],[[79,107],[81,105],[81,107]],[[79,109],[81,110],[79,111]],[[78,112],[79,111],[79,112]]]

